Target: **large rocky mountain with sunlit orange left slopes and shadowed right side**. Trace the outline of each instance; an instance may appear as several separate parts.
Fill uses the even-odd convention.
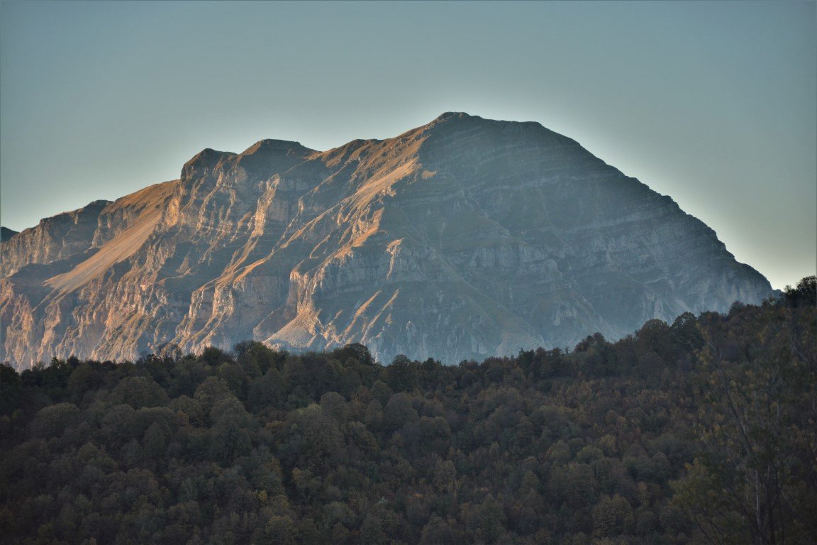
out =
[[[443,114],[319,152],[203,150],[181,178],[2,242],[2,360],[257,339],[446,363],[770,297],[714,231],[538,123]]]

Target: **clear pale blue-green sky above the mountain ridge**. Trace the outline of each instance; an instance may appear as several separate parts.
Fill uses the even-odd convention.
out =
[[[537,121],[777,287],[817,268],[815,2],[2,2],[3,226],[261,138]]]

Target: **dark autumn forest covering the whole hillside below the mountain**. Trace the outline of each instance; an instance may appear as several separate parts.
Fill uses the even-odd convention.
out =
[[[2,365],[0,540],[815,543],[814,285],[451,367],[258,342]]]

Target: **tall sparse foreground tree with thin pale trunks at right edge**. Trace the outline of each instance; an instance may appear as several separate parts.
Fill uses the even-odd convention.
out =
[[[817,536],[815,312],[771,307],[732,320],[730,352],[749,357],[726,355],[704,332],[702,452],[675,501],[712,543],[806,543]]]

